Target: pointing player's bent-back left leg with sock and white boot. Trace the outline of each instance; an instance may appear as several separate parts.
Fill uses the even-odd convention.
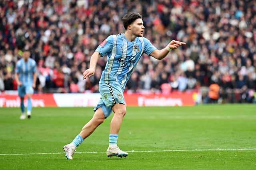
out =
[[[94,130],[103,123],[105,119],[104,112],[101,107],[96,109],[94,116],[84,127],[82,128],[82,131],[75,137],[75,139],[68,145],[65,145],[63,147],[64,151],[66,152],[67,159],[73,159],[73,154],[75,152],[76,147],[81,145],[81,143],[86,139],[88,136],[90,136]]]

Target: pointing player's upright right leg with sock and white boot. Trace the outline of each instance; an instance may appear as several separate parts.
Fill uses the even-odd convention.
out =
[[[110,135],[109,135],[109,147],[107,149],[107,156],[118,156],[118,157],[126,157],[128,156],[127,152],[122,151],[117,146],[117,139],[118,139],[118,133],[124,118],[124,115],[126,114],[126,106],[124,104],[115,104],[112,107],[114,111],[114,116],[110,123]]]

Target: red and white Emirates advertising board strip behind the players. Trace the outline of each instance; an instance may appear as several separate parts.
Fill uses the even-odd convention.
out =
[[[196,93],[174,92],[164,94],[124,94],[126,106],[194,106]],[[94,107],[100,94],[34,94],[33,107]],[[27,99],[24,100],[25,106]],[[19,107],[17,94],[0,94],[0,107]]]

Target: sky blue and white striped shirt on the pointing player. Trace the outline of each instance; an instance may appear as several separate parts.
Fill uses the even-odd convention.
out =
[[[145,37],[130,42],[124,33],[108,36],[95,50],[108,57],[100,83],[116,83],[124,89],[142,54],[154,50],[156,47]]]

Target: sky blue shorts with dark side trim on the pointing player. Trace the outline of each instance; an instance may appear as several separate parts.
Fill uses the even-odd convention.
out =
[[[100,90],[100,101],[98,105],[93,109],[96,111],[99,107],[102,108],[105,118],[107,118],[112,113],[112,106],[117,103],[121,103],[125,105],[124,101],[124,90],[122,90],[121,86],[118,84],[99,84]]]

